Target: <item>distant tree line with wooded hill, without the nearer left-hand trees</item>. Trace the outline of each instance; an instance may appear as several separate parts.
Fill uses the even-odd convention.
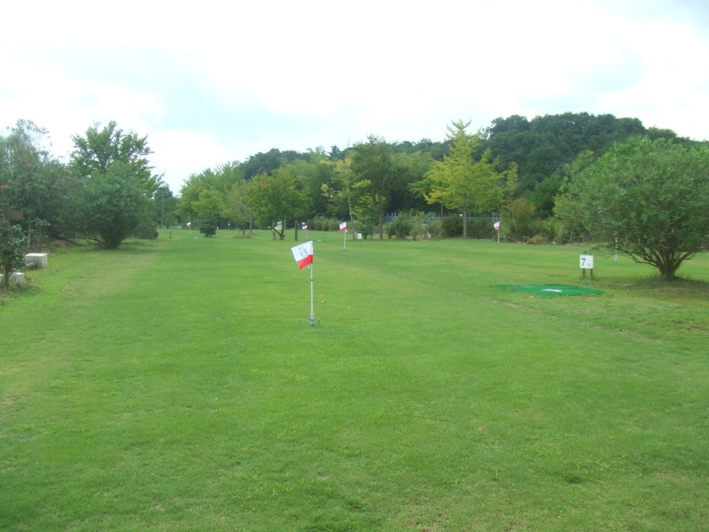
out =
[[[365,234],[374,232],[381,237],[385,213],[445,216],[466,211],[505,216],[508,238],[528,240],[537,235],[564,241],[569,231],[554,218],[555,198],[566,168],[579,154],[602,155],[614,143],[633,135],[666,138],[686,146],[701,144],[671,130],[645,128],[637,118],[610,114],[564,113],[532,120],[514,115],[496,118],[489,127],[474,132],[467,128],[469,123],[453,121],[445,140],[437,142],[389,143],[370,135],[343,150],[332,146],[329,151],[319,147],[300,153],[274,148],[243,162],[206,169],[186,179],[175,220],[245,228],[254,223],[285,227],[296,221],[347,218],[358,221]],[[464,155],[457,152],[464,143],[458,135],[467,135],[472,143]],[[485,168],[504,174],[509,182],[491,187],[495,179],[484,184],[480,177],[481,186],[467,191],[469,199],[461,203],[459,192],[445,191],[435,179],[435,175],[442,177],[445,166],[441,165],[446,159],[450,166],[455,157],[475,164],[479,172]],[[291,201],[280,200],[282,207],[276,206],[274,194],[278,190],[290,190],[292,195]],[[301,197],[296,197],[296,192]],[[268,194],[280,214],[264,209],[269,204]],[[284,223],[284,218],[290,223]],[[458,229],[461,235],[468,235],[467,227]],[[472,234],[481,235],[481,231]]]

